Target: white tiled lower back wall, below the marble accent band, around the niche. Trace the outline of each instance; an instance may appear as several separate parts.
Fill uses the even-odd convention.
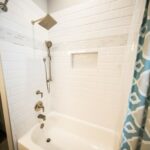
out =
[[[120,83],[126,47],[97,50],[98,66],[94,69],[72,68],[66,51],[53,52],[52,106],[116,131],[122,109]]]

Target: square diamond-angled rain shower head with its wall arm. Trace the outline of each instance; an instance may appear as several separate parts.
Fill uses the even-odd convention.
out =
[[[31,21],[31,23],[34,25],[35,23],[39,22],[39,25],[43,28],[49,30],[52,28],[55,24],[57,24],[56,20],[54,20],[49,14],[47,14],[45,17]]]

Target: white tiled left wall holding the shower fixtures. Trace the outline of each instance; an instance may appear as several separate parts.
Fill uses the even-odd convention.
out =
[[[32,19],[43,15],[31,0],[11,0],[8,12],[0,12],[0,56],[15,142],[37,122],[34,105],[40,96],[36,90],[44,92],[49,110],[43,64],[48,32],[31,25]]]

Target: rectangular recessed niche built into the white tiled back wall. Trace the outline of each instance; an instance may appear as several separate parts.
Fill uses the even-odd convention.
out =
[[[98,51],[71,52],[71,66],[75,69],[94,69],[98,63]]]

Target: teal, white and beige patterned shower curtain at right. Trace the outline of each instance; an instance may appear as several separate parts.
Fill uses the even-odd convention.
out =
[[[150,0],[140,29],[121,150],[150,150]]]

